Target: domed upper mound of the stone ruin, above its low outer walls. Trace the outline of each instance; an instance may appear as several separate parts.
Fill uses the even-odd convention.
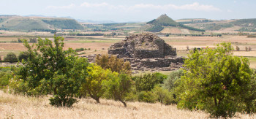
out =
[[[175,57],[176,48],[171,47],[155,34],[142,33],[126,37],[111,45],[108,54],[119,58],[166,58]]]

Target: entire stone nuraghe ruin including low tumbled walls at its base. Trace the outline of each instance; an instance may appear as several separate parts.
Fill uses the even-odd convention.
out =
[[[126,37],[111,45],[108,54],[129,61],[133,70],[170,71],[184,64],[184,58],[176,57],[176,48],[152,33]]]

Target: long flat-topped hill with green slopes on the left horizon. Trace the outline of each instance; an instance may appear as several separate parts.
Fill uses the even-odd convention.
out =
[[[54,29],[83,29],[83,26],[69,18],[0,16],[0,29],[50,31]]]

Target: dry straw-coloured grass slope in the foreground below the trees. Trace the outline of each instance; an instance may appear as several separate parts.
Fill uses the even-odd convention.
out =
[[[200,111],[177,110],[176,105],[128,102],[125,108],[118,101],[80,99],[74,107],[50,106],[48,97],[15,96],[0,91],[0,118],[208,118]],[[238,115],[238,118],[256,118]]]

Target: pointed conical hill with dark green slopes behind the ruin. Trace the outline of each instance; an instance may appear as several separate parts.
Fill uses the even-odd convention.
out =
[[[172,29],[172,28],[176,28],[176,29],[181,29],[182,31],[186,31],[184,29],[187,29],[189,31],[204,31],[200,28],[193,28],[190,26],[185,26],[181,23],[177,23],[175,20],[173,20],[172,18],[169,18],[166,14],[165,15],[161,15],[159,18],[154,19],[149,21],[148,23],[146,23],[148,26],[148,28],[146,28],[146,31],[151,31],[151,32],[161,32],[162,30],[167,29]],[[172,31],[172,30],[165,30],[166,31]],[[170,32],[172,33],[172,32]],[[188,32],[186,31],[186,33],[181,33],[181,34],[187,34]]]

